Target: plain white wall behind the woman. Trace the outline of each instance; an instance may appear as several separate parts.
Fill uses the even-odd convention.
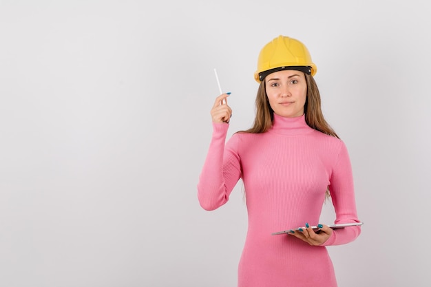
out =
[[[427,1],[0,1],[0,286],[235,286],[241,183],[196,184],[218,86],[250,127],[257,54],[306,44],[364,222],[339,286],[430,286]],[[322,220],[333,220],[330,204]]]

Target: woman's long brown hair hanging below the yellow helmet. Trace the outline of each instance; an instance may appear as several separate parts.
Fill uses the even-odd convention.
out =
[[[320,92],[313,76],[304,74],[307,83],[307,96],[304,106],[305,121],[308,126],[329,136],[339,138],[332,127],[326,122],[321,107]],[[274,111],[266,96],[265,81],[260,82],[255,100],[256,116],[253,126],[245,133],[260,134],[268,131],[273,125]]]

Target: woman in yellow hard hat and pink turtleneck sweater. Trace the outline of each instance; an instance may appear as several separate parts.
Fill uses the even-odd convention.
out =
[[[361,232],[360,226],[332,229],[319,223],[328,196],[336,224],[359,219],[348,151],[324,119],[316,71],[302,42],[278,36],[257,61],[253,127],[226,142],[229,94],[218,96],[211,109],[213,136],[198,199],[202,208],[217,209],[238,180],[244,182],[249,226],[239,287],[335,287],[326,246],[352,242]],[[293,229],[272,235],[286,228]]]

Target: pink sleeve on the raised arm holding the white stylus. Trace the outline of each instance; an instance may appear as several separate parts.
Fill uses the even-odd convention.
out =
[[[198,200],[205,210],[214,210],[229,200],[240,178],[240,158],[232,149],[225,151],[228,124],[213,123],[207,158],[198,182]]]

